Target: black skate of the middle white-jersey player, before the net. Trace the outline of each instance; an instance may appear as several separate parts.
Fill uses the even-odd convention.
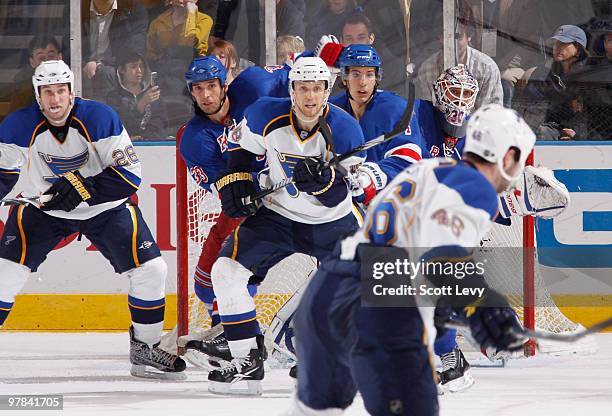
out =
[[[234,358],[226,366],[213,370],[208,374],[208,390],[212,393],[228,395],[259,396],[263,393],[261,380],[264,378],[265,348],[263,336],[257,336],[257,348],[249,355]],[[239,382],[246,382],[239,385]]]

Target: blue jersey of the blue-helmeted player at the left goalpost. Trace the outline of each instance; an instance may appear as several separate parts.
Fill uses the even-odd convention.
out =
[[[179,145],[181,156],[193,179],[208,191],[211,190],[210,185],[225,170],[228,151],[237,147],[227,140],[231,131],[242,121],[246,108],[259,98],[259,91],[254,89],[255,84],[236,82],[242,74],[244,72],[228,88],[230,109],[225,124],[210,120],[196,109],[196,115],[183,131]],[[262,162],[254,166],[254,169],[263,167]]]

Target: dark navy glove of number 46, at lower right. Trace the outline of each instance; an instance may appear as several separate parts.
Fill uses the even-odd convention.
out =
[[[476,302],[482,306],[465,308],[472,336],[482,349],[493,347],[497,351],[516,351],[522,348],[525,337],[516,312],[505,297],[489,290]]]

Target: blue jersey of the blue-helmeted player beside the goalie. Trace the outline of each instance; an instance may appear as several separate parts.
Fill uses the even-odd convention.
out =
[[[354,116],[346,93],[332,97],[330,102]],[[406,104],[406,100],[399,95],[388,91],[376,91],[359,119],[365,141],[368,142],[392,131],[406,109]],[[413,117],[404,134],[368,149],[366,162],[377,163],[386,174],[387,180],[391,181],[402,170],[427,157],[423,153],[424,144],[418,122]]]

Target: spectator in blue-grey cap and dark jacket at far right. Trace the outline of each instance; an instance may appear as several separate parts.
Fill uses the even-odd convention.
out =
[[[531,113],[527,120],[535,125],[541,140],[575,139],[582,136],[577,137],[577,132],[584,131],[585,100],[572,75],[583,70],[588,57],[586,33],[578,26],[563,25],[550,40],[552,61],[533,71],[523,93],[528,101],[526,111]]]

